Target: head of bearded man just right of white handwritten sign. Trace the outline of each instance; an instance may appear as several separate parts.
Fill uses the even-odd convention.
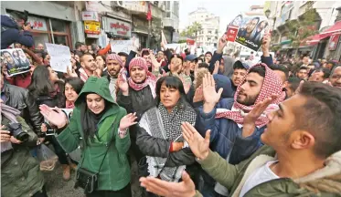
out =
[[[80,79],[85,83],[87,79],[95,74],[97,65],[91,54],[80,57]]]

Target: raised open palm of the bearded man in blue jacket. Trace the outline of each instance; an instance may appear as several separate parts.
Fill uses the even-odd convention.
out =
[[[205,102],[216,104],[218,103],[220,99],[223,89],[219,88],[218,92],[216,91],[216,83],[214,81],[214,78],[210,73],[208,73],[203,78],[202,90],[203,90]]]

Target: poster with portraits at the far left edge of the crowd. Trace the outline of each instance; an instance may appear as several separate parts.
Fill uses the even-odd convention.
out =
[[[1,50],[1,61],[1,65],[7,67],[9,77],[27,73],[30,68],[29,60],[21,48]]]

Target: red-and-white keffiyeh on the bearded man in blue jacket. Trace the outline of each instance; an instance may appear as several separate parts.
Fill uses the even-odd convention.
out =
[[[268,113],[272,110],[278,109],[278,104],[285,99],[285,92],[282,91],[282,81],[271,68],[269,68],[266,64],[261,63],[257,64],[253,67],[265,67],[265,78],[263,80],[263,84],[261,86],[261,92],[258,95],[255,103],[251,106],[245,106],[237,102],[237,97],[240,93],[240,87],[244,84],[247,75],[250,73],[250,69],[248,70],[247,75],[242,79],[240,86],[237,88],[236,94],[234,95],[234,104],[231,110],[229,109],[217,109],[216,119],[232,119],[238,124],[243,124],[244,117],[247,113],[250,112],[251,109],[254,108],[255,105],[263,101],[264,99],[270,98],[272,95],[278,95],[278,98],[272,101],[272,104],[268,106],[267,109],[261,114],[261,116],[256,120],[255,125],[259,128],[265,126],[269,119],[266,117]]]

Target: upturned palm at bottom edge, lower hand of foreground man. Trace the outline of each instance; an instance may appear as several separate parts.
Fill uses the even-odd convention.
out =
[[[153,192],[159,196],[192,197],[196,194],[196,186],[186,171],[182,173],[181,182],[162,181],[155,177],[142,177],[140,181],[141,186],[144,187],[147,192]]]

